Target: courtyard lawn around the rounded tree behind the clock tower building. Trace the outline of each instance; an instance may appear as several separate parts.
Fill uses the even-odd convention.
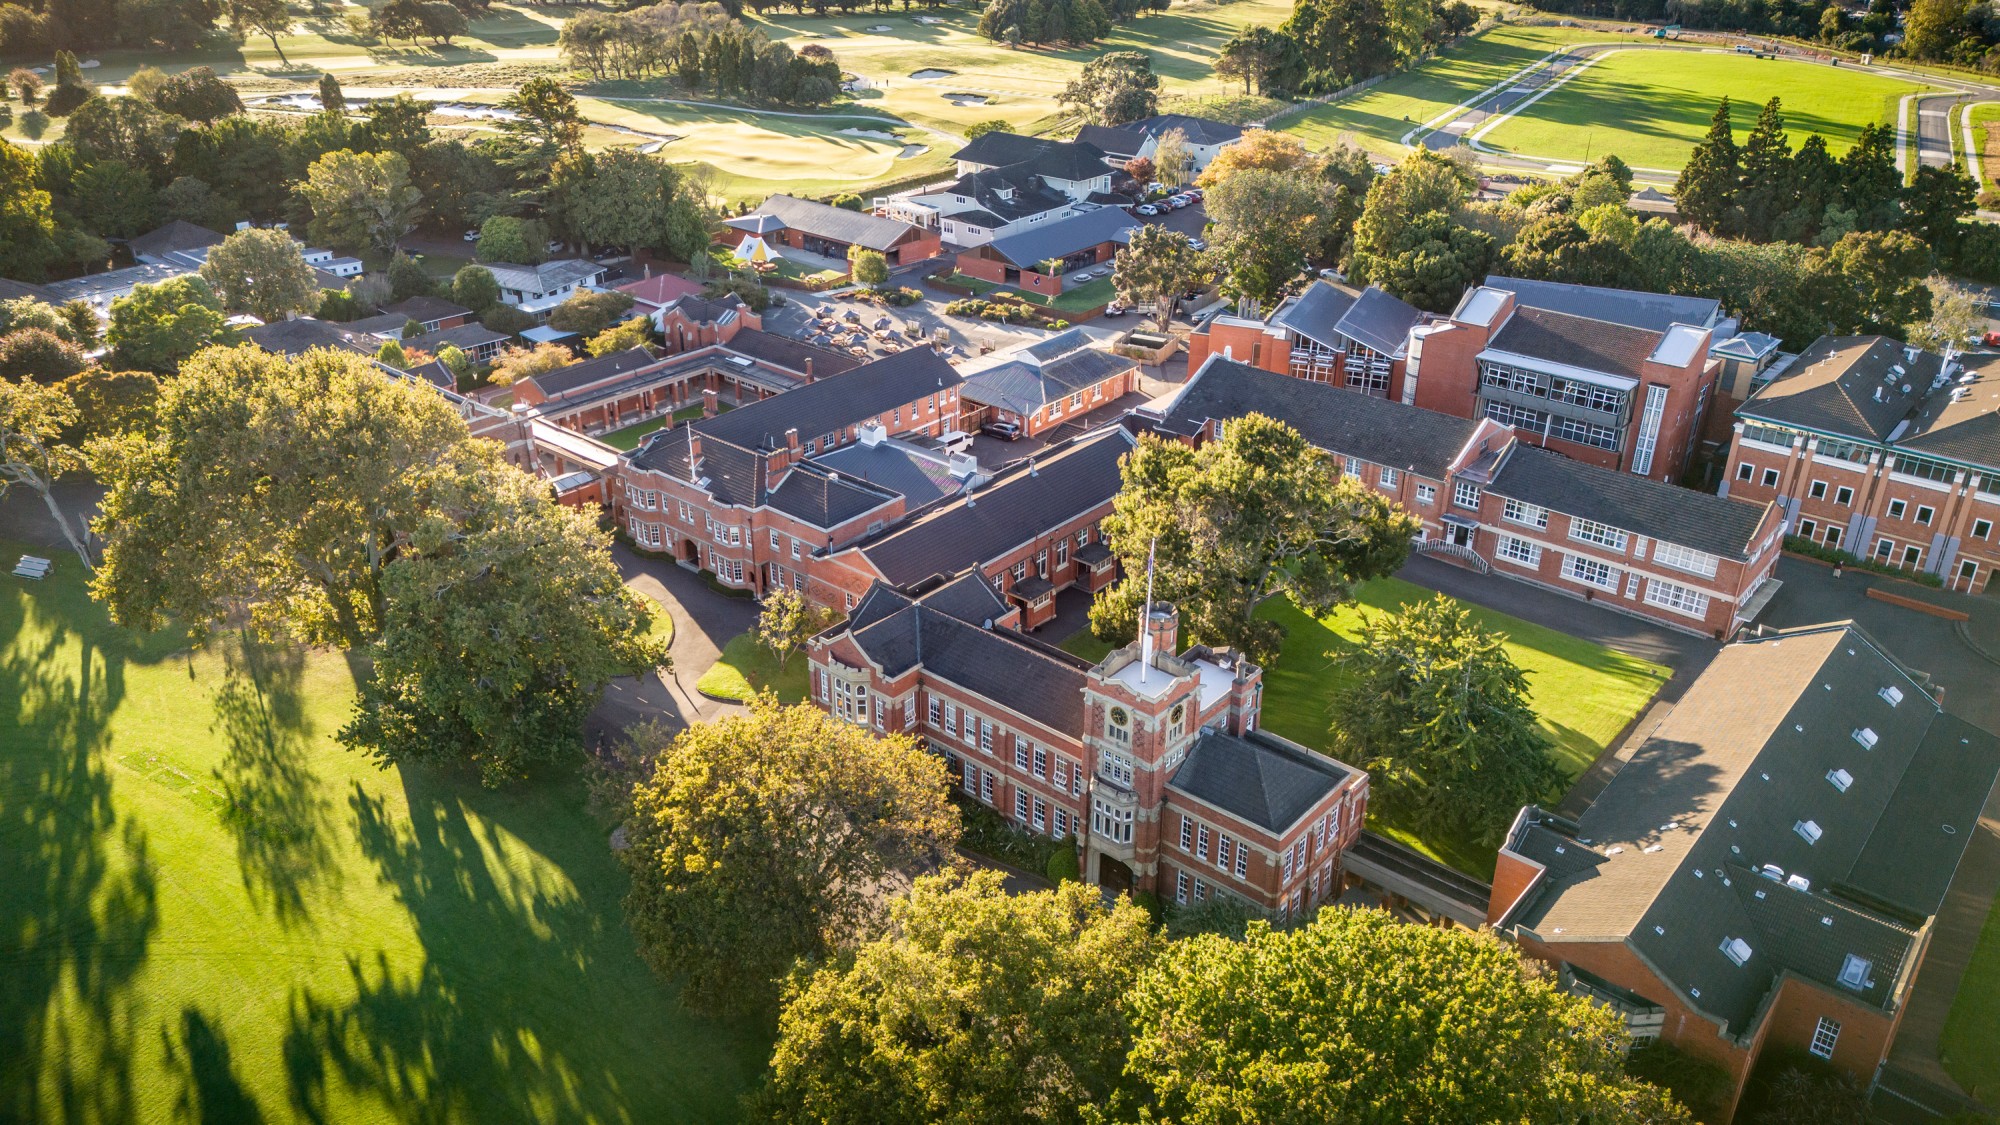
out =
[[[1380,579],[1364,583],[1354,591],[1352,605],[1324,621],[1306,617],[1290,601],[1266,603],[1258,613],[1282,623],[1286,639],[1278,663],[1264,669],[1264,729],[1326,751],[1328,699],[1340,687],[1326,653],[1352,649],[1368,617],[1396,613],[1402,605],[1430,597],[1436,595],[1402,579]],[[1470,609],[1482,629],[1508,637],[1508,655],[1528,673],[1534,711],[1554,741],[1556,761],[1572,779],[1596,761],[1666,683],[1668,671],[1660,665],[1504,613]],[[1372,795],[1368,825],[1460,871],[1492,879],[1494,845],[1466,837],[1422,837],[1398,821],[1386,793]]]

